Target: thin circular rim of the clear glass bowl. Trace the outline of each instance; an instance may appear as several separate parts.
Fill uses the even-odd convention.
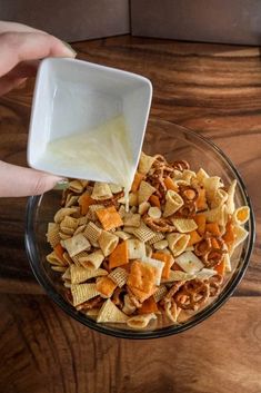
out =
[[[168,121],[168,120],[161,120],[161,119],[155,119],[155,118],[150,118],[149,122],[159,122],[159,124],[165,124],[170,126],[175,126],[180,128],[180,130],[183,130],[187,134],[192,135],[193,138],[198,140],[202,140],[204,144],[210,145],[212,149],[218,153],[222,157],[222,159],[228,164],[230,167],[231,171],[233,173],[235,179],[239,181],[243,197],[245,198],[245,202],[248,203],[248,206],[250,207],[250,232],[249,232],[249,244],[247,248],[247,253],[244,256],[244,261],[242,263],[242,266],[233,273],[233,275],[230,278],[230,283],[224,287],[224,289],[221,292],[221,294],[218,296],[215,301],[213,301],[210,305],[208,305],[205,308],[197,313],[193,318],[189,322],[185,322],[184,324],[177,324],[177,325],[170,325],[167,327],[161,327],[160,330],[155,331],[128,331],[128,330],[120,330],[120,328],[113,328],[108,325],[102,325],[98,324],[96,321],[86,317],[83,314],[79,313],[76,311],[76,308],[70,305],[66,299],[52,287],[52,285],[43,278],[41,275],[38,266],[40,266],[39,262],[39,255],[37,253],[37,247],[36,247],[36,236],[33,233],[33,217],[34,217],[34,210],[37,206],[39,205],[42,195],[38,196],[31,196],[28,199],[27,204],[27,209],[26,209],[26,234],[24,234],[24,245],[26,245],[26,252],[27,256],[31,266],[31,269],[33,272],[33,275],[36,276],[37,281],[39,284],[44,288],[46,293],[48,296],[68,315],[70,315],[72,318],[77,320],[78,322],[82,323],[83,325],[99,332],[103,333],[109,336],[114,336],[119,338],[129,338],[129,340],[149,340],[149,338],[161,338],[170,335],[174,335],[178,333],[182,333],[199,323],[203,322],[207,320],[209,316],[211,316],[213,313],[215,313],[234,293],[237,286],[240,284],[241,279],[244,276],[244,273],[248,268],[250,257],[253,250],[253,245],[254,245],[254,238],[255,238],[255,223],[254,223],[254,214],[253,214],[253,208],[251,204],[251,199],[249,197],[247,187],[241,178],[241,175],[239,174],[238,169],[235,169],[234,165],[230,160],[230,158],[227,157],[227,155],[210,139],[205,138],[201,134],[198,134],[187,127],[180,126],[175,122]]]

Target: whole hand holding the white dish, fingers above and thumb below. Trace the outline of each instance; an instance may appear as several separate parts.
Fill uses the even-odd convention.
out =
[[[40,59],[76,57],[58,38],[28,26],[0,22],[0,95],[36,75]],[[61,180],[60,177],[0,161],[0,197],[39,195]]]

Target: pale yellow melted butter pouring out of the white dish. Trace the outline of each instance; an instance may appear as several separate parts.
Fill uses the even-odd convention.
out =
[[[46,154],[73,168],[99,173],[124,189],[126,209],[135,168],[123,116],[118,116],[88,132],[56,139],[47,145]],[[94,178],[92,180],[96,180]]]

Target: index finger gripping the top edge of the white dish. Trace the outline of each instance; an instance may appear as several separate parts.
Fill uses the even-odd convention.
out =
[[[4,32],[0,35],[0,77],[19,62],[46,57],[76,57],[58,38],[43,32]]]

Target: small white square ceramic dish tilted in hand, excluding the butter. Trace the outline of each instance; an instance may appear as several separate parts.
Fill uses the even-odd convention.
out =
[[[28,164],[30,167],[72,178],[112,181],[104,174],[59,166],[49,160],[49,143],[89,132],[123,116],[132,165],[138,165],[149,117],[152,86],[149,79],[123,70],[74,59],[44,59],[39,68],[32,104]]]

